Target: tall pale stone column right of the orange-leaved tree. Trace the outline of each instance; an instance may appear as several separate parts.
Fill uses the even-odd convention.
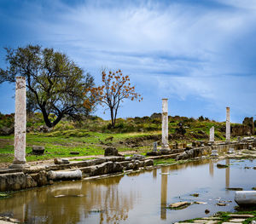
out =
[[[168,145],[168,99],[162,99],[162,151],[169,151]]]

